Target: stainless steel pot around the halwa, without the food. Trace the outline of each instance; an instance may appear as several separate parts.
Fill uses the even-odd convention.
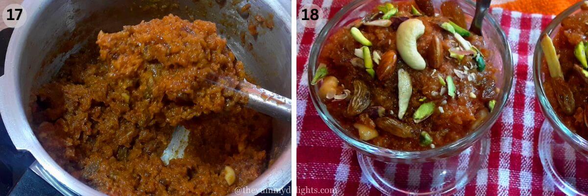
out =
[[[159,2],[160,1],[145,1]],[[237,12],[246,3],[251,4],[248,19]],[[29,97],[31,90],[48,82],[59,71],[69,54],[99,30],[114,32],[123,25],[138,24],[142,20],[175,14],[184,19],[203,19],[216,22],[219,33],[228,39],[229,48],[243,61],[248,74],[261,87],[290,95],[290,1],[250,0],[233,4],[226,0],[179,0],[179,6],[149,10],[142,2],[128,1],[76,1],[26,0],[22,6],[28,12],[28,21],[12,34],[5,61],[5,74],[0,77],[0,113],[6,130],[18,150],[30,151],[37,162],[31,168],[64,195],[103,195],[83,182],[76,180],[56,162],[39,143],[29,125]],[[160,7],[161,8],[161,7]],[[272,30],[258,28],[256,38],[247,31],[248,21],[256,14],[269,18],[273,15]],[[246,43],[241,35],[246,35]],[[73,41],[72,47],[56,52],[63,41]],[[77,42],[81,41],[81,42]],[[251,43],[252,48],[248,45]],[[291,179],[290,122],[274,121],[273,142],[269,152],[273,164],[259,178],[251,182],[250,193],[265,189],[279,189]]]

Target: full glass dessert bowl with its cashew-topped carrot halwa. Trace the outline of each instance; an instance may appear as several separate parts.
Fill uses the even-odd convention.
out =
[[[471,1],[354,1],[312,46],[312,101],[385,194],[451,192],[486,159],[513,62],[491,16],[483,36],[465,29],[474,10]]]

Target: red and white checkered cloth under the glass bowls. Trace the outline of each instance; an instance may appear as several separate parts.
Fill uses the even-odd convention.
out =
[[[296,6],[299,12],[304,5],[319,5],[325,17],[331,18],[349,2],[302,0]],[[553,16],[500,8],[490,9],[490,13],[502,26],[512,47],[515,79],[509,101],[490,131],[489,158],[477,176],[456,195],[564,195],[547,177],[539,159],[537,144],[544,117],[536,99],[532,75],[534,45]],[[324,22],[311,29],[298,22],[296,29],[298,188],[336,188],[336,195],[381,195],[362,178],[356,152],[333,134],[310,101],[306,74],[308,55],[322,25]]]

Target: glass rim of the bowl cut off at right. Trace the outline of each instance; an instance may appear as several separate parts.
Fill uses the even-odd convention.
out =
[[[541,106],[541,111],[543,112],[543,115],[547,121],[549,121],[549,124],[552,125],[553,129],[557,131],[557,134],[560,137],[562,137],[569,144],[574,144],[572,145],[574,148],[580,147],[584,151],[588,151],[588,141],[580,137],[580,135],[572,132],[572,130],[567,128],[561,119],[557,117],[557,114],[555,113],[552,105],[545,95],[543,79],[541,77],[541,67],[543,64],[543,49],[541,47],[542,36],[545,34],[552,36],[552,34],[555,32],[554,30],[562,24],[563,19],[574,14],[583,4],[585,4],[585,1],[576,2],[576,4],[570,6],[558,14],[551,22],[549,22],[549,25],[547,25],[547,27],[539,35],[539,40],[537,40],[537,43],[535,44],[535,51],[533,52],[533,82],[535,85],[535,93],[537,95],[537,99],[539,99],[539,105]]]

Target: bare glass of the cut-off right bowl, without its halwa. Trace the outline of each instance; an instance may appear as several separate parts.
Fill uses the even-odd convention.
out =
[[[564,18],[580,11],[583,1],[560,13],[542,32],[554,38]],[[537,41],[533,57],[533,79],[541,111],[546,118],[539,134],[539,157],[547,176],[567,195],[588,195],[588,172],[576,165],[588,164],[588,141],[575,134],[557,117],[543,87],[546,74],[543,69],[543,49]]]

